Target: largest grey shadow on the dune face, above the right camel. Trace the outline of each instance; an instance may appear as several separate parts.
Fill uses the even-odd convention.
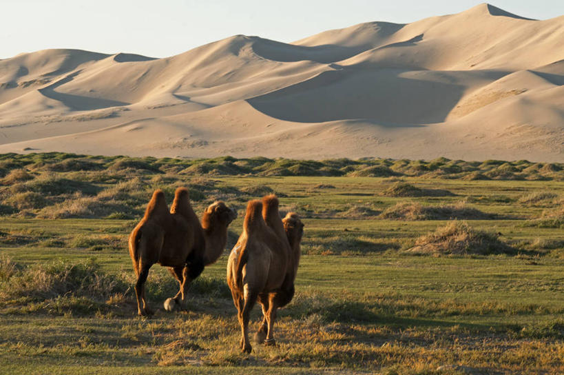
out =
[[[328,70],[247,102],[264,114],[299,123],[366,119],[377,123],[441,123],[465,88],[457,83],[401,77],[405,70]]]

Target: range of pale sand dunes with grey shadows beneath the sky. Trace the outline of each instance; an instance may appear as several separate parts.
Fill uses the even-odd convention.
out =
[[[481,4],[183,54],[0,60],[0,152],[564,162],[564,16]]]

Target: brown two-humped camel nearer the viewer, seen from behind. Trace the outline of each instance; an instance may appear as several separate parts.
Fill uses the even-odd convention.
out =
[[[289,219],[289,230],[293,231],[290,220],[296,219],[297,215]],[[301,225],[301,221],[300,224],[293,223]],[[302,230],[302,226],[299,230]],[[289,236],[294,241],[293,247]],[[264,315],[264,343],[275,345],[273,325],[276,310],[289,303],[293,296],[293,282],[299,261],[299,255],[295,256],[293,250],[296,247],[299,250],[301,232],[297,246],[296,239],[295,233],[287,234],[284,230],[276,196],[264,196],[262,201],[249,201],[243,232],[229,254],[227,263],[227,284],[241,325],[242,352],[250,353],[252,350],[249,342],[249,314],[256,301],[262,305]]]

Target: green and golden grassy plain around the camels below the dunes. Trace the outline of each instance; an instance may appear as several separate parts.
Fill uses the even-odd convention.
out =
[[[2,155],[0,373],[561,374],[562,167]],[[236,207],[230,246],[249,199],[276,192],[302,214],[277,347],[240,354],[227,256],[192,285],[189,312],[136,316],[127,234],[154,188],[171,199],[178,185],[198,214]],[[454,220],[501,250],[410,251]],[[148,287],[153,307],[176,293],[158,266]]]

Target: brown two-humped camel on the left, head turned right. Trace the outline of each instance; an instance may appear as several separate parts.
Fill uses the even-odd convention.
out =
[[[152,315],[145,298],[145,281],[158,263],[180,284],[180,290],[165,302],[165,310],[185,307],[187,290],[204,267],[215,262],[227,243],[227,227],[237,213],[222,201],[209,205],[202,225],[192,209],[188,190],[178,187],[169,212],[162,190],[153,193],[145,216],[129,234],[129,256],[137,276],[135,293],[140,316]]]

